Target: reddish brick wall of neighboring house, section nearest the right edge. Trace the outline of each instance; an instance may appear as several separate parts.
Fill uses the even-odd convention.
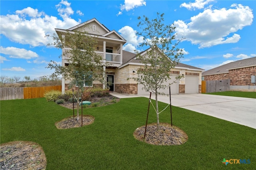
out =
[[[256,75],[256,66],[229,70],[230,85],[252,85],[252,75]]]

